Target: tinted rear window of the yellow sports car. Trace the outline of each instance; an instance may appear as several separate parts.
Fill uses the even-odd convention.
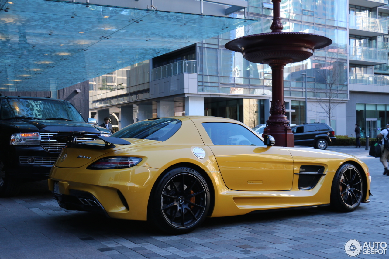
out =
[[[165,141],[177,132],[181,124],[180,120],[168,118],[140,121],[117,131],[111,137]]]

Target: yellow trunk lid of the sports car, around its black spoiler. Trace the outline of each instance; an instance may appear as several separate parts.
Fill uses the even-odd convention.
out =
[[[116,147],[111,149],[96,149],[93,148],[93,145],[103,145],[102,140],[95,140],[84,142],[82,148],[74,145],[73,147],[64,148],[58,157],[57,161],[54,163],[56,167],[62,168],[79,168],[81,166],[87,165],[103,157],[108,156],[130,156],[131,151],[134,151],[137,147],[143,145],[151,145],[160,143],[158,140],[148,140],[148,139],[138,139],[138,138],[123,138],[131,144],[129,145],[116,145]],[[88,149],[88,145],[91,145],[91,148]],[[135,155],[136,156],[136,155]],[[93,171],[93,170],[91,170]]]

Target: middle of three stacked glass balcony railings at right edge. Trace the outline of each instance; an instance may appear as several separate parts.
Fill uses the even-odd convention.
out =
[[[388,61],[388,51],[383,49],[349,46],[349,59],[386,63]]]

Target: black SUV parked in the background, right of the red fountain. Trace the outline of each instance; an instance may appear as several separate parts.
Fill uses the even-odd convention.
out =
[[[295,146],[311,146],[327,149],[336,140],[335,131],[326,123],[304,123],[292,127]]]

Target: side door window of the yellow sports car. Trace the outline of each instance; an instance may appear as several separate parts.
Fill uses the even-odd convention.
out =
[[[228,122],[204,122],[203,127],[214,145],[265,145],[258,135],[239,124]]]

